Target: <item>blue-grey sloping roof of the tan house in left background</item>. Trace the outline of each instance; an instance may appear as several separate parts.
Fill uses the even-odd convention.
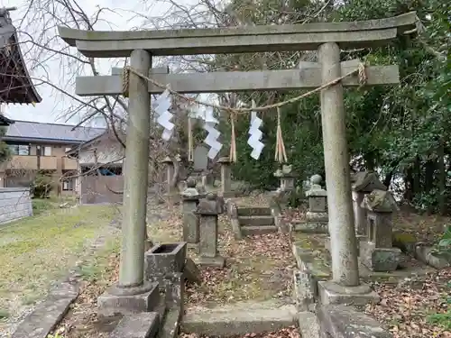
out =
[[[74,127],[72,124],[14,121],[14,124],[8,126],[3,141],[79,144],[106,131],[104,128]]]

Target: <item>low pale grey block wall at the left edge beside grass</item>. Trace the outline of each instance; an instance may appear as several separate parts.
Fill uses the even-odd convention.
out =
[[[32,215],[28,187],[0,187],[0,224]]]

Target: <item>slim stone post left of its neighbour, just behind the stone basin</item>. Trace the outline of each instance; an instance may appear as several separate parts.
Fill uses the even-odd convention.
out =
[[[194,179],[189,179],[181,197],[183,199],[183,241],[188,242],[189,248],[198,249],[199,217],[194,212],[198,207],[200,196]]]

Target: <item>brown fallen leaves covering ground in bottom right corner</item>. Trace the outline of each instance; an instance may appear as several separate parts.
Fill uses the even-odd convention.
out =
[[[403,282],[398,286],[375,285],[381,302],[366,306],[365,312],[385,324],[394,338],[451,338],[443,326],[430,323],[428,315],[451,310],[451,269],[443,269],[424,282]]]

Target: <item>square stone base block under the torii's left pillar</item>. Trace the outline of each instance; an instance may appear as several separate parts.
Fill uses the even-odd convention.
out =
[[[157,283],[144,281],[137,288],[120,288],[114,285],[97,298],[100,315],[131,315],[151,312],[160,302]]]

